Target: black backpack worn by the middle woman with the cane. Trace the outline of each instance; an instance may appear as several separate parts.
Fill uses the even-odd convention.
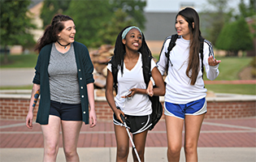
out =
[[[149,82],[150,82],[150,77],[151,77],[151,59],[152,57],[149,56],[146,59],[146,62],[143,62],[142,59],[142,69],[143,69],[143,77],[144,77],[144,82],[146,87],[148,87]],[[118,66],[117,62],[114,61],[114,59],[111,59],[111,70],[112,70],[112,75],[113,75],[113,87],[115,88],[115,92],[117,94],[117,74],[118,74]],[[161,104],[159,100],[159,96],[149,96],[151,105],[152,105],[152,113],[151,113],[151,120],[152,120],[152,125],[150,126],[149,130],[153,130],[154,126],[158,123],[160,118],[163,115],[163,105]]]

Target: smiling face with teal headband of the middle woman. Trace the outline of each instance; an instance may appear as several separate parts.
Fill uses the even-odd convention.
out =
[[[142,45],[141,32],[137,28],[132,28],[122,41],[126,50],[138,51]]]

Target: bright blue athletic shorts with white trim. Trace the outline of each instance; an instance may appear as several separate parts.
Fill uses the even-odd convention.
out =
[[[184,119],[185,115],[201,115],[207,112],[206,98],[194,100],[187,104],[172,104],[164,102],[164,114]]]

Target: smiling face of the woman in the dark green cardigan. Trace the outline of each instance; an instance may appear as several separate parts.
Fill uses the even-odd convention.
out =
[[[59,32],[59,43],[62,45],[67,45],[68,43],[74,42],[74,38],[76,35],[76,26],[72,20],[67,20],[62,22],[64,28],[61,32]]]

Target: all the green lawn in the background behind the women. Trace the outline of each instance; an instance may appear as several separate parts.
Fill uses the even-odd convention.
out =
[[[158,58],[156,55],[155,58]],[[23,55],[9,55],[10,64],[2,64],[3,56],[0,56],[1,66],[0,68],[20,68],[36,66],[37,54],[23,54]],[[243,68],[249,66],[249,62],[253,58],[216,58],[221,60],[219,64],[219,76],[215,80],[237,80],[238,74]],[[206,79],[206,76],[204,76]],[[254,84],[209,84],[206,85],[209,91],[220,93],[236,93],[246,95],[256,95],[256,85]],[[0,87],[0,89],[31,89],[31,87]]]

